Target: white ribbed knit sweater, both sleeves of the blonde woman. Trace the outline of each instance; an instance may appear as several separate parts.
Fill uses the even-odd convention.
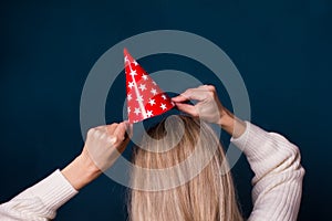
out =
[[[276,133],[246,122],[247,129],[231,141],[241,149],[255,172],[250,221],[297,220],[304,169],[297,146]],[[0,220],[50,220],[77,191],[60,170],[0,204]]]

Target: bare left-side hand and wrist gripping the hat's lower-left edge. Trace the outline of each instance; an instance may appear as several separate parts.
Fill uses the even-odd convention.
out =
[[[121,156],[129,141],[126,130],[132,131],[131,125],[123,122],[98,126],[87,131],[83,151],[62,170],[76,190],[97,178]]]

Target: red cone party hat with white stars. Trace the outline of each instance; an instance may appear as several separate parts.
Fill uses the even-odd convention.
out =
[[[148,73],[124,49],[128,122],[137,123],[160,115],[175,105]]]

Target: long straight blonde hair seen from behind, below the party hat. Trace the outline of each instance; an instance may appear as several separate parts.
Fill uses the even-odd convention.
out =
[[[206,123],[188,116],[168,117],[151,128],[139,146],[135,147],[133,155],[133,162],[137,167],[158,171],[173,168],[173,173],[154,176],[139,169],[132,171],[132,185],[139,188],[133,188],[129,192],[129,220],[242,220],[232,178],[224,162],[225,152],[214,130]],[[173,148],[165,150],[165,147]],[[186,161],[195,148],[199,149],[195,165],[187,164],[181,169],[174,169],[175,165]],[[210,151],[215,152],[197,176],[178,186],[165,188],[169,183],[179,183],[181,177],[196,165],[201,165]],[[159,190],[151,188],[156,186]]]

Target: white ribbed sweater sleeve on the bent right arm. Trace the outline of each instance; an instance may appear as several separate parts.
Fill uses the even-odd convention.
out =
[[[279,134],[246,124],[245,134],[231,141],[243,151],[255,172],[253,210],[248,220],[297,220],[304,176],[299,148]]]

